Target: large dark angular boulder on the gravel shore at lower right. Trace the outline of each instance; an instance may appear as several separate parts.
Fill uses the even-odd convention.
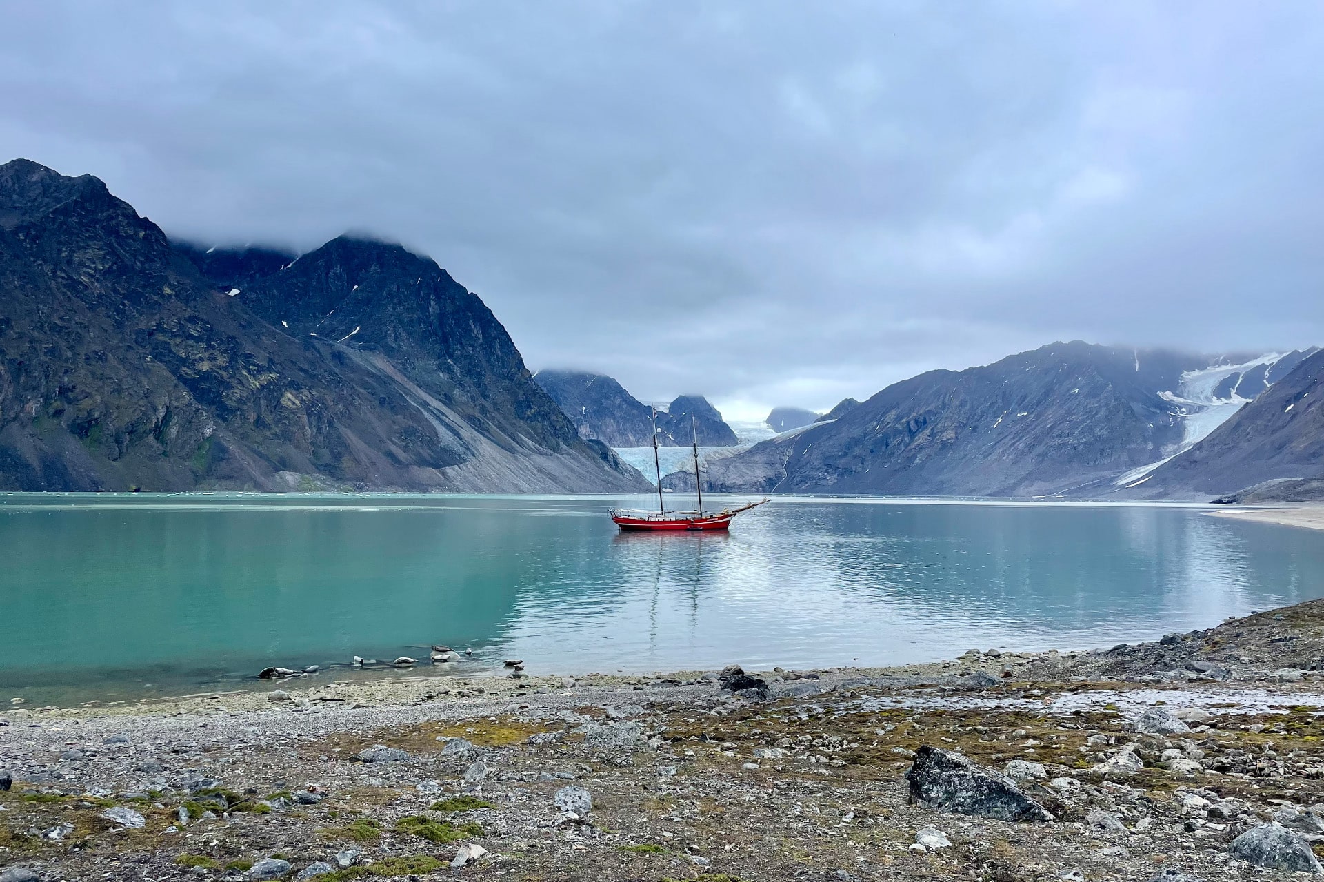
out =
[[[906,772],[911,799],[940,812],[980,815],[1004,821],[1051,821],[1053,816],[1026,796],[1006,775],[984,768],[960,754],[924,744]]]

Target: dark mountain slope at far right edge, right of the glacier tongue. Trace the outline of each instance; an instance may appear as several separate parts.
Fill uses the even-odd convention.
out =
[[[1241,501],[1319,499],[1324,479],[1324,350],[1287,376],[1190,450],[1131,489],[1149,499],[1231,496]]]

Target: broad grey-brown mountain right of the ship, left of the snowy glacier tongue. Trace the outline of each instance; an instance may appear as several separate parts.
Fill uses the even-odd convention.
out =
[[[1094,495],[1182,438],[1177,387],[1202,356],[1057,342],[933,370],[704,473],[708,489],[953,496]]]

